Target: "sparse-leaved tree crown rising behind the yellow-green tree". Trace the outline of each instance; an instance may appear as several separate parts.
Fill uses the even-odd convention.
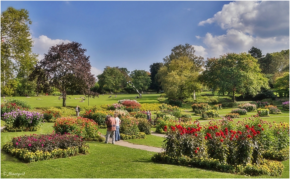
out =
[[[202,71],[202,66],[204,65],[204,58],[195,55],[194,46],[190,44],[177,45],[171,49],[171,54],[163,58],[164,65],[170,64],[173,59],[178,59],[180,57],[186,56],[193,62],[193,67],[196,71]]]

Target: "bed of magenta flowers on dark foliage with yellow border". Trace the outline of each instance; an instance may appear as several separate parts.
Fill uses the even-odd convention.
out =
[[[77,135],[30,134],[14,137],[3,150],[25,162],[35,162],[88,154],[89,146]]]

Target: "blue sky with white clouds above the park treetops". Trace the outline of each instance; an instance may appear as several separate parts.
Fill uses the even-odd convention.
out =
[[[106,66],[146,70],[189,43],[195,54],[263,54],[289,49],[289,1],[1,1],[26,9],[39,60],[62,42],[79,42],[91,72]]]

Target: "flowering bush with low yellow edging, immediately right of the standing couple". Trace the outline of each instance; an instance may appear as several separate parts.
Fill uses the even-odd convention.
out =
[[[136,118],[133,118],[133,117],[123,118],[120,124],[121,139],[145,139],[146,135],[145,133],[144,135],[140,133],[138,125],[139,125],[139,122]],[[144,137],[144,138],[140,138],[140,137]]]

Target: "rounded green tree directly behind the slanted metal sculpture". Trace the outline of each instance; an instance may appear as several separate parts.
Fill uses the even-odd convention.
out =
[[[151,83],[150,73],[145,70],[134,70],[130,73],[132,78],[132,83],[136,89],[141,93],[141,91],[146,91]]]

